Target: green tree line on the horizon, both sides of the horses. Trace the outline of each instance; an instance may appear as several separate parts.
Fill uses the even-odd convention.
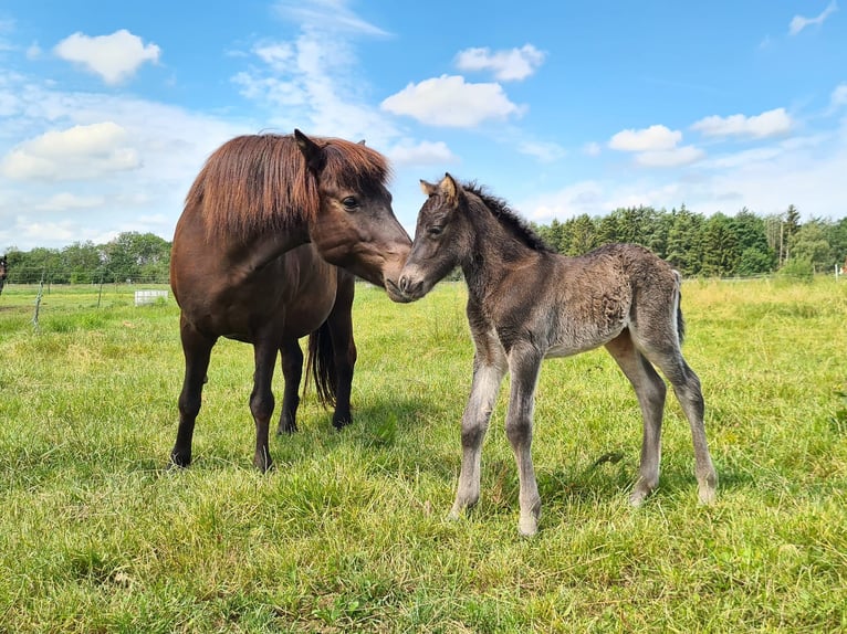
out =
[[[579,255],[610,242],[635,242],[692,277],[750,277],[775,272],[797,276],[834,271],[847,258],[847,218],[801,222],[791,205],[760,216],[742,209],[705,216],[684,205],[586,214],[533,229],[556,251]],[[1,254],[0,254],[1,255]],[[63,249],[7,252],[12,284],[167,283],[170,242],[153,234],[122,233],[106,244],[75,242]]]

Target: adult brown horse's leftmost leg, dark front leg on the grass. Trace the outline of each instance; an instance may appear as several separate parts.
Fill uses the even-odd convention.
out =
[[[180,318],[179,326],[186,372],[182,379],[182,391],[179,394],[179,427],[176,443],[170,452],[170,462],[177,466],[187,467],[191,464],[195,421],[200,413],[202,388],[216,339],[209,339],[198,332],[185,318]]]

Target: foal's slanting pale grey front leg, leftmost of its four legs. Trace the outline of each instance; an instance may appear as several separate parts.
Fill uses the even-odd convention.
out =
[[[499,348],[499,344],[496,346]],[[462,467],[456,501],[448,516],[450,519],[458,519],[466,508],[472,507],[480,498],[482,441],[505,371],[504,356],[485,358],[478,349],[473,359],[471,395],[462,414]]]

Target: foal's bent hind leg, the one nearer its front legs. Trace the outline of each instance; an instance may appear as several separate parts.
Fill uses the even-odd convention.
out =
[[[630,504],[638,506],[659,485],[661,421],[668,389],[649,361],[636,349],[629,330],[624,330],[617,338],[606,344],[606,349],[629,379],[641,408],[644,419],[641,462],[638,480],[629,495]]]

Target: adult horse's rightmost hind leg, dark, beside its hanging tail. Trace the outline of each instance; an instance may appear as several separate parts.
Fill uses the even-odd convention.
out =
[[[353,422],[351,392],[353,391],[353,371],[356,366],[356,342],[353,339],[354,293],[355,278],[339,270],[335,305],[326,319],[333,342],[333,363],[335,364],[333,426],[336,430]]]

